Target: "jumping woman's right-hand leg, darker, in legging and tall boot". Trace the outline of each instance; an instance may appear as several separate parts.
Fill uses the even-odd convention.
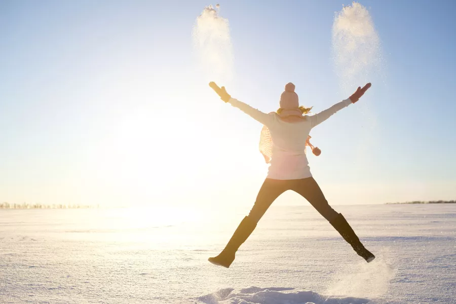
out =
[[[313,177],[296,180],[293,191],[306,198],[317,211],[326,218],[337,232],[349,243],[356,253],[367,262],[372,261],[375,256],[367,250],[353,231],[345,217],[334,211],[326,201],[320,186]]]

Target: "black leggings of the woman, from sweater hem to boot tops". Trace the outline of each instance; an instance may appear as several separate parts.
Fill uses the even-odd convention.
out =
[[[308,200],[328,221],[334,219],[338,214],[329,206],[320,186],[313,177],[288,180],[267,178],[258,192],[255,204],[250,210],[249,218],[258,222],[269,206],[287,190],[293,190]]]

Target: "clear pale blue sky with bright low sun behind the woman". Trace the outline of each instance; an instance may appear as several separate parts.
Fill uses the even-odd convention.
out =
[[[455,199],[456,3],[360,3],[382,75],[312,130],[313,176],[331,205]],[[0,0],[0,201],[249,209],[262,126],[207,85],[192,29],[210,4]],[[316,112],[347,98],[331,57],[344,4],[220,1],[234,53],[220,85],[264,112],[288,82]]]

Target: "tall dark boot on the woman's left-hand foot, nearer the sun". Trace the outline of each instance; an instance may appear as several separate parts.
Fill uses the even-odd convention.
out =
[[[244,217],[225,249],[223,249],[219,255],[210,257],[208,260],[213,264],[229,268],[235,259],[236,251],[238,251],[242,243],[244,243],[253,230],[255,230],[255,227],[256,223],[254,221],[248,216]]]

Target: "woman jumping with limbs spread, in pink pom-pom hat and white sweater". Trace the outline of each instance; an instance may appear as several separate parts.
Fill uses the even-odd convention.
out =
[[[262,145],[266,148],[261,148],[260,144],[261,153],[264,159],[270,163],[270,167],[253,208],[249,215],[241,221],[223,251],[215,257],[210,257],[209,261],[229,268],[235,259],[236,251],[253,232],[257,222],[275,199],[287,190],[293,190],[307,199],[358,255],[367,262],[372,261],[375,256],[364,248],[344,216],[329,206],[320,187],[312,177],[306,157],[306,141],[308,141],[310,130],[338,110],[357,102],[371,84],[368,83],[363,88],[359,87],[348,99],[336,103],[314,116],[303,115],[310,111],[310,108],[299,107],[298,96],[294,92],[295,86],[292,83],[285,86],[285,91],[280,96],[280,109],[269,114],[231,98],[224,87],[220,89],[213,82],[209,85],[224,102],[231,103],[264,125],[261,141],[265,141],[264,138],[266,141],[267,138],[271,140],[269,149],[268,144]]]

